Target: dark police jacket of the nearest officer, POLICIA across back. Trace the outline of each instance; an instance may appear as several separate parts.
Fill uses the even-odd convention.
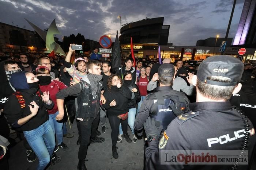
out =
[[[190,104],[189,107],[192,112],[176,117],[164,131],[162,138],[159,140],[159,144],[158,140],[153,140],[148,143],[148,147],[145,151],[146,169],[230,169],[232,163],[231,165],[209,165],[207,163],[204,165],[184,165],[185,162],[182,161],[180,165],[174,165],[174,163],[177,163],[177,154],[179,152],[172,152],[173,150],[187,153],[200,151],[199,154],[197,153],[195,155],[199,155],[201,158],[202,155],[207,156],[207,152],[212,155],[211,152],[214,150],[217,151],[219,155],[223,154],[220,150],[238,150],[239,155],[242,145],[244,144],[244,120],[240,113],[232,108],[229,101],[198,102]],[[249,161],[250,165],[256,136],[252,123],[248,119],[246,120],[248,124],[250,124],[250,131],[248,133],[250,138],[246,149],[249,151],[249,160],[247,161]],[[163,153],[165,151],[167,154]],[[231,161],[230,159],[219,160],[218,158],[219,157],[217,157],[218,162],[222,161],[220,163]],[[203,157],[202,159],[206,162],[207,159],[209,160],[209,157]],[[199,158],[195,158],[194,162],[195,160],[202,162]],[[215,158],[210,159],[211,162],[214,160]],[[165,163],[169,165],[164,165]],[[189,163],[192,163],[192,159],[190,161],[188,160],[188,164]],[[213,163],[215,164],[215,162]],[[238,169],[248,169],[248,165],[239,165]]]

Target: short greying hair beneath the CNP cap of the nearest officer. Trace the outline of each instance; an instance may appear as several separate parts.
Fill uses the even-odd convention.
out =
[[[231,82],[231,78],[222,76],[207,76],[207,80],[219,81],[219,82]],[[226,100],[228,101],[232,96],[233,90],[236,86],[217,86],[196,81],[197,90],[204,96],[212,100]]]

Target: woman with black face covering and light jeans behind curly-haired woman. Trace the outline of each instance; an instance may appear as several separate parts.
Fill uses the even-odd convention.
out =
[[[128,87],[129,90],[131,90],[132,92],[132,98],[131,100],[128,100],[128,125],[132,130],[132,140],[133,143],[137,142],[137,137],[135,135],[134,132],[134,121],[135,121],[135,116],[136,116],[136,107],[137,104],[140,102],[141,96],[140,96],[140,92],[139,92],[139,88],[138,86],[134,83],[134,81],[132,80],[132,73],[127,71],[124,73],[124,85],[126,85]],[[121,142],[121,140],[123,139],[123,131],[122,131],[122,126],[121,124],[119,125],[119,135],[118,135],[118,139],[117,142]]]

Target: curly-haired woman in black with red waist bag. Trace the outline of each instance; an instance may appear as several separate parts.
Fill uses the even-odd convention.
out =
[[[122,130],[124,132],[124,138],[128,143],[132,140],[127,133],[128,128],[128,101],[132,97],[131,90],[121,81],[121,77],[117,74],[112,74],[108,78],[108,90],[105,90],[103,96],[106,98],[106,103],[103,107],[106,109],[106,113],[109,117],[109,124],[112,129],[112,156],[118,158],[116,142],[119,134],[119,124],[121,123]]]

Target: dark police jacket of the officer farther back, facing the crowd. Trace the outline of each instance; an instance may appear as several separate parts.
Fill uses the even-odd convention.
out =
[[[137,117],[135,118],[134,129],[139,131],[143,128],[143,123],[147,117],[154,117],[155,120],[166,129],[169,123],[176,117],[169,107],[173,104],[170,96],[176,96],[180,101],[181,108],[184,111],[189,109],[189,100],[184,93],[172,89],[172,86],[162,86],[155,89],[143,100]]]

